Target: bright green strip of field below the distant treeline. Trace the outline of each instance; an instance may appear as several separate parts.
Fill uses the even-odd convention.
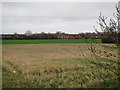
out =
[[[2,44],[45,44],[45,43],[101,43],[101,39],[43,39],[43,40],[3,40]]]

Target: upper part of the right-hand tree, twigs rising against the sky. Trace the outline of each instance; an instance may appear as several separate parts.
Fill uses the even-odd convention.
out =
[[[100,13],[100,16],[98,18],[98,24],[100,26],[100,29],[102,32],[99,30],[96,30],[96,32],[101,35],[103,42],[106,43],[118,43],[118,19],[120,16],[120,9],[116,5],[116,14],[114,14],[114,18],[110,19],[109,22],[107,23],[107,17],[102,16]]]

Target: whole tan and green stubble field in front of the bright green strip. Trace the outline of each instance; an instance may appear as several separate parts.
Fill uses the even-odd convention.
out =
[[[3,43],[3,88],[119,87],[114,44]]]

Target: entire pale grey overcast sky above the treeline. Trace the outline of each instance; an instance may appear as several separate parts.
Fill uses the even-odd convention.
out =
[[[109,18],[115,2],[4,2],[2,33],[94,32],[100,12]]]

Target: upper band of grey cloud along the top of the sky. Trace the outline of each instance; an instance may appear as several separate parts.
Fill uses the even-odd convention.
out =
[[[115,3],[3,3],[5,16],[96,17],[115,11]],[[107,12],[107,13],[105,13]]]

